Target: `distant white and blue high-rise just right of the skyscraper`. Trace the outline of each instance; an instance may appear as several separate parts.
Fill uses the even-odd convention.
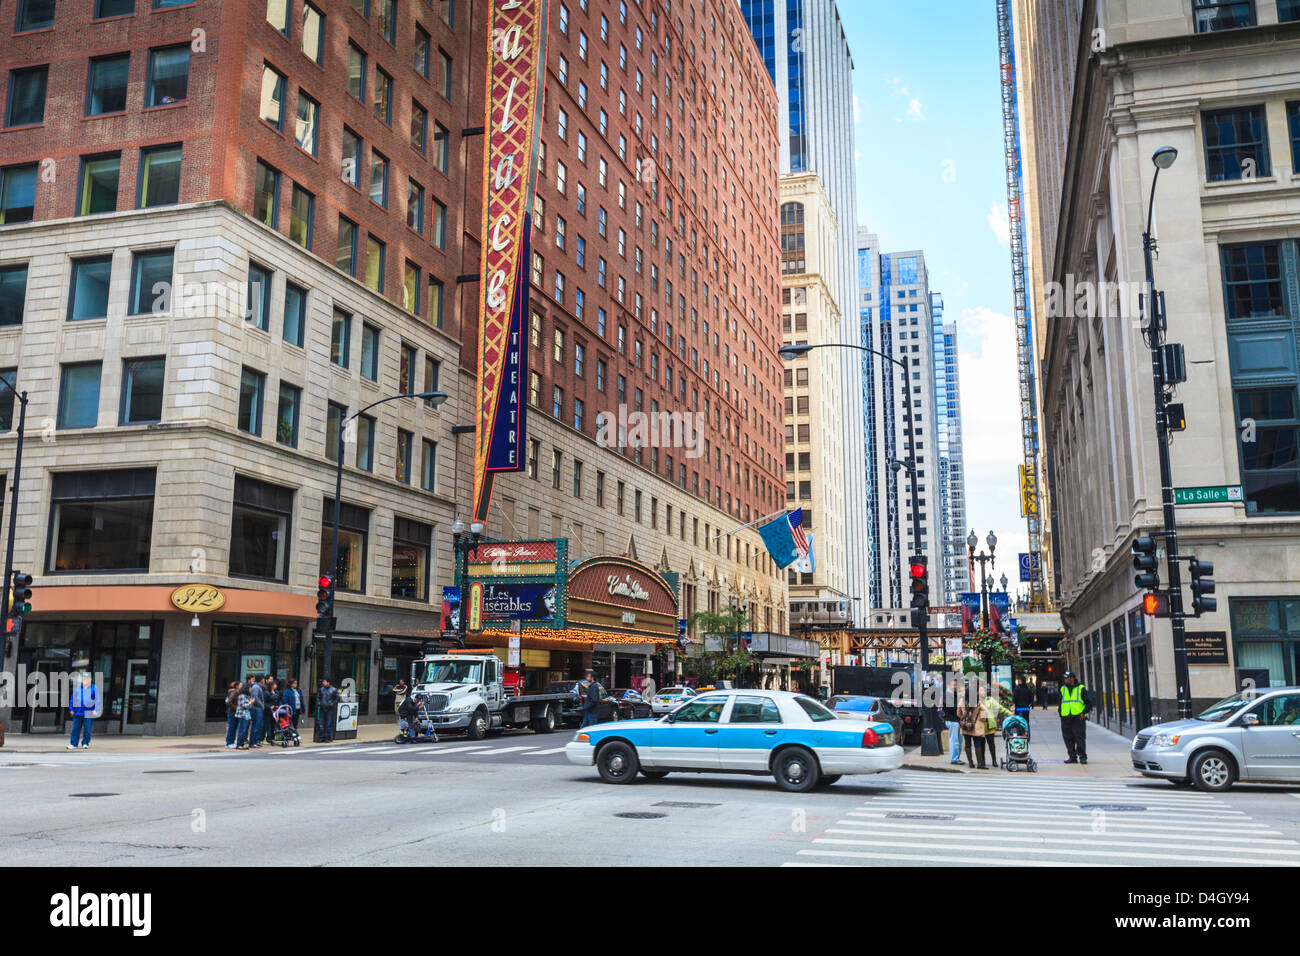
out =
[[[862,373],[870,384],[862,407],[863,416],[870,416],[871,432],[864,473],[875,480],[868,593],[872,609],[904,607],[909,598],[902,568],[914,553],[928,557],[932,597],[946,591],[946,584],[941,583],[946,581],[946,570],[944,574],[935,571],[946,568],[936,385],[936,378],[942,377],[946,394],[946,359],[941,339],[936,347],[932,312],[935,303],[940,303],[941,310],[941,299],[931,294],[926,256],[919,250],[881,252],[876,237],[864,228],[858,230],[857,245],[861,341],[889,356],[862,354]],[[905,364],[906,377],[896,363]],[[945,373],[939,376],[937,369]],[[902,467],[909,453],[909,410],[916,455],[919,540],[913,537],[911,484]]]

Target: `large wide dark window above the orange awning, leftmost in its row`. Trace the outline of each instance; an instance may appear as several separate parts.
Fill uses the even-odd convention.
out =
[[[46,571],[148,571],[153,468],[56,473]]]

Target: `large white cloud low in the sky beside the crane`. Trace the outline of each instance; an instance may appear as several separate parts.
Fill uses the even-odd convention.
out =
[[[992,528],[1006,555],[1011,591],[1019,579],[1014,557],[1028,550],[1017,466],[1020,459],[1020,398],[1017,380],[1015,320],[980,306],[957,321],[962,392],[962,455],[966,466],[966,523],[980,541]]]

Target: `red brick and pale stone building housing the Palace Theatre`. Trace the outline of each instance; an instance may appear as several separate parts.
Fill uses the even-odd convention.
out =
[[[211,732],[250,671],[313,687],[342,459],[330,676],[391,719],[468,515],[489,9],[0,10],[0,376],[29,401],[14,554],[36,576],[4,670],[94,663],[110,732]],[[526,468],[488,536],[636,558],[676,576],[681,618],[736,604],[783,632],[785,574],[738,529],[785,501],[771,83],[729,0],[552,1],[549,33]],[[696,441],[599,438],[660,410],[698,415]],[[173,604],[191,588],[202,614]],[[529,680],[651,665],[573,636],[525,636]]]

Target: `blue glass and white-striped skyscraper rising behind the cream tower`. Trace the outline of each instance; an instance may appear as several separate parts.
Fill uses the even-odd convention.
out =
[[[837,225],[837,287],[840,304],[838,342],[858,342],[857,302],[853,281],[857,232],[857,187],[853,163],[853,57],[835,0],[741,0],[767,73],[780,99],[781,173],[816,173],[831,203]],[[837,350],[842,390],[846,453],[866,446],[862,406],[862,364],[849,349]],[[870,576],[867,550],[867,484],[861,468],[845,475],[846,589],[866,604]],[[853,602],[850,602],[853,604]]]

